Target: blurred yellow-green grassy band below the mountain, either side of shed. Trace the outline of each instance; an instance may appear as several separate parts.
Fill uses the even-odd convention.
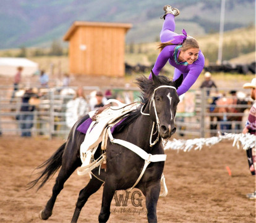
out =
[[[216,62],[218,57],[218,33],[195,38],[197,38],[200,49],[205,55],[206,63]],[[132,66],[140,63],[141,65],[153,67],[159,54],[157,48],[158,42],[127,44],[125,61]],[[68,49],[63,47],[58,40],[54,40],[51,47],[48,48],[26,48],[22,46],[20,49],[0,51],[0,57],[27,57],[39,63],[40,67],[45,70],[49,68],[50,64],[54,64],[55,67],[61,66],[63,72],[69,72],[67,54]],[[255,61],[255,27],[250,26],[224,33],[223,60],[229,60],[233,63],[251,63]],[[166,65],[164,74],[171,75],[173,70],[173,67]]]

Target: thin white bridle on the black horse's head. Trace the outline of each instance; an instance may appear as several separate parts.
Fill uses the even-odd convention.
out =
[[[150,99],[150,108],[151,108],[151,103],[152,103],[152,106],[155,110],[155,116],[156,116],[156,131],[158,131],[158,136],[156,137],[156,140],[154,142],[152,142],[152,136],[156,134],[153,133],[154,131],[154,127],[155,127],[155,121],[153,121],[153,126],[152,126],[152,129],[151,129],[151,134],[150,134],[150,147],[153,147],[153,145],[156,144],[156,142],[158,142],[159,140],[159,136],[160,136],[160,121],[159,121],[159,118],[158,118],[158,115],[157,115],[157,112],[156,112],[156,104],[155,104],[155,91],[157,89],[160,89],[160,88],[163,88],[163,87],[168,87],[168,88],[173,88],[177,91],[176,87],[173,87],[173,86],[168,86],[168,85],[162,85],[162,86],[159,86],[159,87],[156,87],[156,89],[154,89],[153,91],[153,94],[151,96],[151,99]],[[140,113],[142,113],[142,115],[150,115],[150,113],[143,113],[143,107],[144,105],[142,105],[142,108],[140,109]]]

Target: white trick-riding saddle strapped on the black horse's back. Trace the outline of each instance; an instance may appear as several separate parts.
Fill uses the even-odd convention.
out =
[[[111,106],[110,103],[117,103],[117,106]],[[101,142],[101,149],[106,150],[108,142],[108,128],[113,128],[116,124],[121,123],[127,114],[136,110],[138,102],[129,105],[119,102],[118,100],[109,99],[108,103],[99,110],[90,111],[89,116],[92,123],[87,129],[85,139],[80,145],[80,158],[82,166],[77,169],[77,174],[82,176],[96,166],[99,166],[106,160],[105,153],[98,160],[94,160],[93,156]],[[94,160],[94,161],[93,161]]]

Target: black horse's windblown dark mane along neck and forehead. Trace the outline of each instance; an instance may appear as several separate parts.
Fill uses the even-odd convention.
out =
[[[166,76],[158,75],[157,78],[158,81],[160,82],[160,85],[174,85],[173,80],[169,79]],[[139,78],[136,78],[135,84],[137,84],[142,90],[142,92],[140,93],[140,102],[142,103],[142,105],[147,104],[151,98],[151,95],[153,94],[154,89],[158,86],[155,86],[153,81],[151,79],[148,79],[144,75],[139,76]],[[127,128],[130,123],[133,123],[140,116],[140,109],[142,105],[137,107],[137,110],[129,113],[129,115],[126,116],[126,119],[116,127],[114,132],[121,132],[124,130],[124,128]]]

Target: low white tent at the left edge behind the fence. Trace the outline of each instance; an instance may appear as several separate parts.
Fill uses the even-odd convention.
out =
[[[0,57],[1,76],[14,76],[17,67],[23,67],[22,76],[32,76],[38,70],[38,63],[26,58]]]

